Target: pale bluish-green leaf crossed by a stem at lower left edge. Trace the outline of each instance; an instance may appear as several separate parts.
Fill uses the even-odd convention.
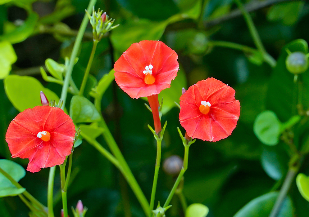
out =
[[[19,164],[7,159],[0,159],[0,167],[7,172],[16,182],[24,178],[26,175],[25,169]],[[0,188],[15,187],[9,179],[0,173]]]

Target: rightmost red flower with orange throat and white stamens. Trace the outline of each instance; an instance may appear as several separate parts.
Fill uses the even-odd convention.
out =
[[[235,91],[215,78],[199,81],[180,97],[179,120],[189,137],[216,142],[232,134],[240,114]]]

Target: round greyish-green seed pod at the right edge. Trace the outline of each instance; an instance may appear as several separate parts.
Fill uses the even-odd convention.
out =
[[[293,52],[285,60],[288,71],[294,75],[304,73],[309,67],[309,60],[303,52]]]

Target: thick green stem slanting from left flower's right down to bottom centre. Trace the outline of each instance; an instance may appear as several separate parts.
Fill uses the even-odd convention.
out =
[[[139,187],[139,184],[137,183],[136,179],[134,178],[134,175],[132,174],[127,162],[125,161],[125,158],[123,157],[122,153],[120,152],[120,149],[118,148],[115,139],[111,135],[111,132],[109,131],[104,119],[99,122],[99,126],[105,129],[103,131],[103,137],[108,145],[108,147],[111,149],[111,152],[114,154],[116,159],[118,160],[119,164],[121,165],[123,169],[123,175],[125,176],[125,179],[129,183],[130,187],[132,188],[135,196],[137,197],[139,203],[141,204],[144,212],[146,215],[149,214],[149,203],[142,192],[141,188]]]

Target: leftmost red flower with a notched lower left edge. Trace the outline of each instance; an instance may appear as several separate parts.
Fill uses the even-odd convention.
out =
[[[36,106],[19,113],[6,134],[12,157],[29,158],[27,170],[62,164],[71,153],[75,126],[63,110]]]

